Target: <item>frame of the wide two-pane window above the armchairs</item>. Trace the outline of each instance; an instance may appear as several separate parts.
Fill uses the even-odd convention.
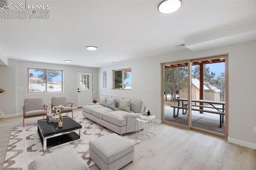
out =
[[[36,91],[36,92],[31,92],[30,91],[30,70],[42,70],[42,71],[46,71],[46,81],[45,81],[45,91]],[[48,91],[48,71],[61,71],[61,91]],[[40,69],[40,68],[31,68],[28,67],[27,68],[27,76],[28,76],[28,93],[29,94],[36,94],[36,93],[63,93],[63,84],[64,84],[64,79],[63,79],[63,73],[64,70],[58,70],[58,69]]]

